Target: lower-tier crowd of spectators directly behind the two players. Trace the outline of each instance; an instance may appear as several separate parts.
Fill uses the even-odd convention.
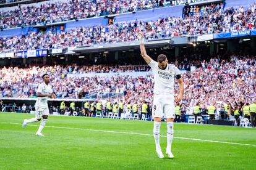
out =
[[[201,62],[199,60],[197,62],[190,61],[197,68],[182,75],[185,92],[182,104],[179,105],[181,113],[193,114],[195,106],[202,108],[202,111],[206,111],[209,106],[214,106],[218,111],[223,108],[227,111],[228,116],[236,110],[239,110],[240,113],[245,103],[253,103],[256,100],[255,59],[254,55],[232,55],[229,59],[221,59],[218,56]],[[93,67],[96,68],[96,71],[92,69]],[[51,85],[58,98],[82,99],[90,94],[100,92],[119,92],[124,94],[124,99],[122,99],[124,107],[128,103],[129,105],[137,104],[139,108],[143,103],[147,103],[148,108],[151,107],[154,82],[153,76],[150,74],[145,77],[95,75],[92,78],[70,78],[67,76],[70,73],[89,73],[90,69],[94,73],[104,72],[104,68],[107,68],[106,66],[93,67],[55,65],[52,67],[2,68],[0,70],[0,97],[35,97],[36,88],[41,83],[41,74],[47,72],[51,75]],[[144,65],[136,67],[136,69],[131,66],[121,66],[119,68],[110,67],[109,70],[115,70],[113,72],[118,73],[124,71],[124,68],[129,68],[126,71],[146,71],[148,69]],[[137,68],[143,69],[138,70]],[[178,89],[177,86],[176,84],[175,89]],[[114,105],[120,100],[111,102]],[[58,110],[58,108],[55,109]],[[78,109],[82,111],[82,108]],[[150,111],[148,111],[149,113]]]

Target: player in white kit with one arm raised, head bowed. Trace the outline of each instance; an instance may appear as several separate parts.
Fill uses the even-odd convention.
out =
[[[143,59],[151,67],[154,75],[154,99],[152,107],[152,116],[154,118],[153,134],[156,144],[156,153],[159,158],[164,158],[160,147],[160,126],[161,119],[166,118],[167,121],[167,148],[166,154],[169,158],[173,158],[171,152],[171,144],[173,142],[173,122],[175,118],[174,102],[181,102],[184,92],[184,83],[181,78],[181,71],[173,64],[168,64],[166,55],[159,55],[158,62],[152,60],[146,52],[143,43],[143,34],[139,33],[140,51]],[[179,95],[174,99],[174,79],[179,83]]]

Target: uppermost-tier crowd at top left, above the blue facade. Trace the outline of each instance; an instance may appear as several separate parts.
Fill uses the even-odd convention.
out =
[[[136,10],[179,5],[185,2],[182,0],[49,1],[40,6],[32,4],[30,6],[19,6],[18,9],[14,10],[0,11],[0,28],[6,29],[17,26],[40,25],[103,15],[122,14]]]

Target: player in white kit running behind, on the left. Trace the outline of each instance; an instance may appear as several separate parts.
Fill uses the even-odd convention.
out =
[[[37,89],[37,100],[35,103],[35,118],[24,119],[22,127],[25,128],[28,123],[39,122],[43,117],[43,120],[40,123],[38,131],[36,132],[37,136],[44,136],[41,134],[43,127],[45,127],[46,121],[48,121],[49,108],[48,108],[48,97],[56,98],[56,95],[53,93],[53,89],[49,85],[49,75],[43,75],[44,83],[41,83]]]

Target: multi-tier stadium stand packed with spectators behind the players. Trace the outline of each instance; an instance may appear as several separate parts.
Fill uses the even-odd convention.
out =
[[[211,105],[213,119],[231,118],[236,110],[244,118],[242,108],[256,99],[255,8],[254,1],[228,0],[45,1],[1,8],[1,108],[22,112],[25,104],[24,111],[33,110],[41,76],[49,73],[57,97],[51,113],[73,115],[71,101],[81,116],[97,116],[94,101],[103,102],[100,116],[108,114],[107,101],[123,103],[122,113],[141,113],[146,103],[150,120],[154,82],[140,56],[141,31],[148,55],[166,54],[182,70],[181,121],[196,106],[208,119]],[[86,101],[92,115],[85,113]]]

